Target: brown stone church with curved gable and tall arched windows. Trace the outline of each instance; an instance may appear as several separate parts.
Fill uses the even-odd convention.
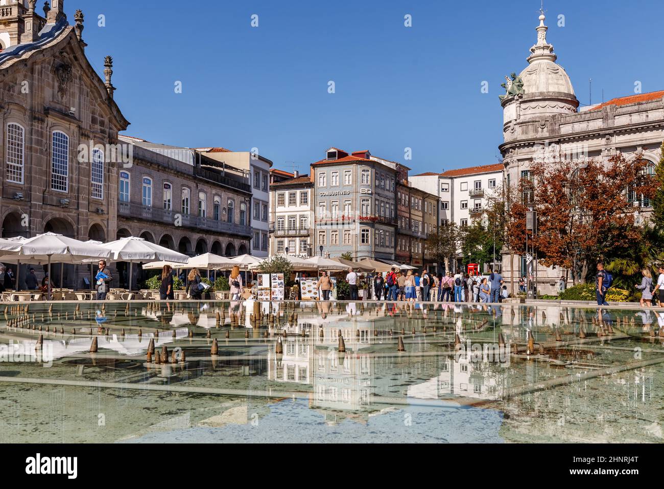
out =
[[[83,13],[70,25],[62,0],[46,2],[43,17],[36,3],[0,4],[1,234],[113,239],[127,158],[118,131],[129,122],[113,100],[112,59],[102,79],[85,54]],[[82,286],[84,270],[64,271],[64,285]],[[59,284],[60,267],[52,273]]]

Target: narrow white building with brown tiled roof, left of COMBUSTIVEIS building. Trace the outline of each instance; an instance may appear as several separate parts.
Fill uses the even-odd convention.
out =
[[[313,182],[309,175],[293,175],[270,185],[270,255],[288,248],[289,255],[306,259],[315,253]]]

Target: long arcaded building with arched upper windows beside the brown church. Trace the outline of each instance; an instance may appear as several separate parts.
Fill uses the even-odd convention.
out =
[[[187,255],[249,252],[248,172],[189,148],[120,138],[131,144],[133,164],[118,176],[117,238],[139,236]],[[125,264],[118,268],[125,285]],[[141,274],[133,276],[140,283]]]

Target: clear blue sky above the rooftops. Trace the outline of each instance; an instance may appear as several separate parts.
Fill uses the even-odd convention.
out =
[[[527,65],[539,0],[68,0],[88,58],[114,57],[126,134],[181,146],[257,147],[308,172],[329,146],[406,163],[411,174],[496,162],[504,75]],[[664,89],[664,3],[544,2],[547,39],[592,101]],[[98,16],[106,27],[98,27]],[[251,27],[252,15],[258,27]],[[404,15],[412,27],[404,27]],[[564,15],[564,27],[558,27]],[[175,82],[182,93],[175,93]],[[328,93],[328,82],[335,93]],[[481,83],[489,92],[481,92]],[[412,160],[404,160],[412,148]],[[287,163],[288,162],[288,163]]]

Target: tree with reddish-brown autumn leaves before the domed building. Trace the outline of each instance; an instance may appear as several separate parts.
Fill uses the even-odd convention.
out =
[[[529,232],[528,239],[540,263],[571,270],[574,283],[585,281],[590,267],[612,248],[639,239],[631,196],[654,196],[656,183],[645,171],[647,164],[640,156],[627,159],[622,154],[606,163],[535,162],[531,177],[519,182],[521,195],[530,202],[515,203],[509,210],[508,244],[525,251],[529,204],[537,211],[537,234]]]

